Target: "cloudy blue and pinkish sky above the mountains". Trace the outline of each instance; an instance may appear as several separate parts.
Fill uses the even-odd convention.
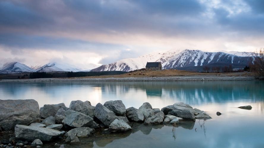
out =
[[[88,69],[157,51],[252,52],[263,43],[264,0],[0,1],[0,65]]]

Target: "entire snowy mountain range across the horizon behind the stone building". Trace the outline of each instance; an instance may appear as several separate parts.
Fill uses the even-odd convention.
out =
[[[175,49],[167,52],[154,52],[137,58],[121,59],[101,65],[92,70],[82,70],[69,64],[48,63],[45,65],[24,65],[19,62],[5,63],[0,73],[55,72],[55,71],[131,71],[144,68],[147,62],[161,62],[163,69],[183,69],[201,71],[203,66],[228,66],[242,68],[254,60],[253,52],[203,52],[201,50],[183,51]],[[94,67],[96,65],[93,65]]]

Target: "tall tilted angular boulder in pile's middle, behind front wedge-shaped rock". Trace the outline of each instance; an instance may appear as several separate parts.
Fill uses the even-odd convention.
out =
[[[101,103],[98,103],[95,106],[94,116],[105,126],[110,126],[110,124],[116,119],[115,113],[103,106]]]

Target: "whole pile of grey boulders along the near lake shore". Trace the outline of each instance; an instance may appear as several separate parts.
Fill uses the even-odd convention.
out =
[[[10,132],[9,139],[0,141],[0,147],[41,147],[45,141],[64,141],[78,144],[79,138],[94,132],[131,132],[138,125],[195,123],[195,119],[210,119],[206,112],[182,102],[160,109],[153,109],[148,102],[139,109],[126,109],[121,100],[98,103],[72,101],[69,108],[64,103],[45,104],[39,109],[38,102],[28,100],[0,100],[0,126],[2,133]],[[133,127],[133,125],[135,126]],[[137,125],[138,124],[138,125]],[[136,129],[135,129],[136,130]],[[14,132],[12,132],[14,131]],[[53,147],[63,147],[55,143]]]

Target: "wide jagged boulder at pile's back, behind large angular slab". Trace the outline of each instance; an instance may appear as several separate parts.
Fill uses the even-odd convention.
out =
[[[92,106],[91,102],[89,101],[85,101],[85,102],[81,100],[72,101],[69,108],[77,112],[81,112],[84,115],[88,115],[91,118],[94,118],[94,108],[95,107]]]

